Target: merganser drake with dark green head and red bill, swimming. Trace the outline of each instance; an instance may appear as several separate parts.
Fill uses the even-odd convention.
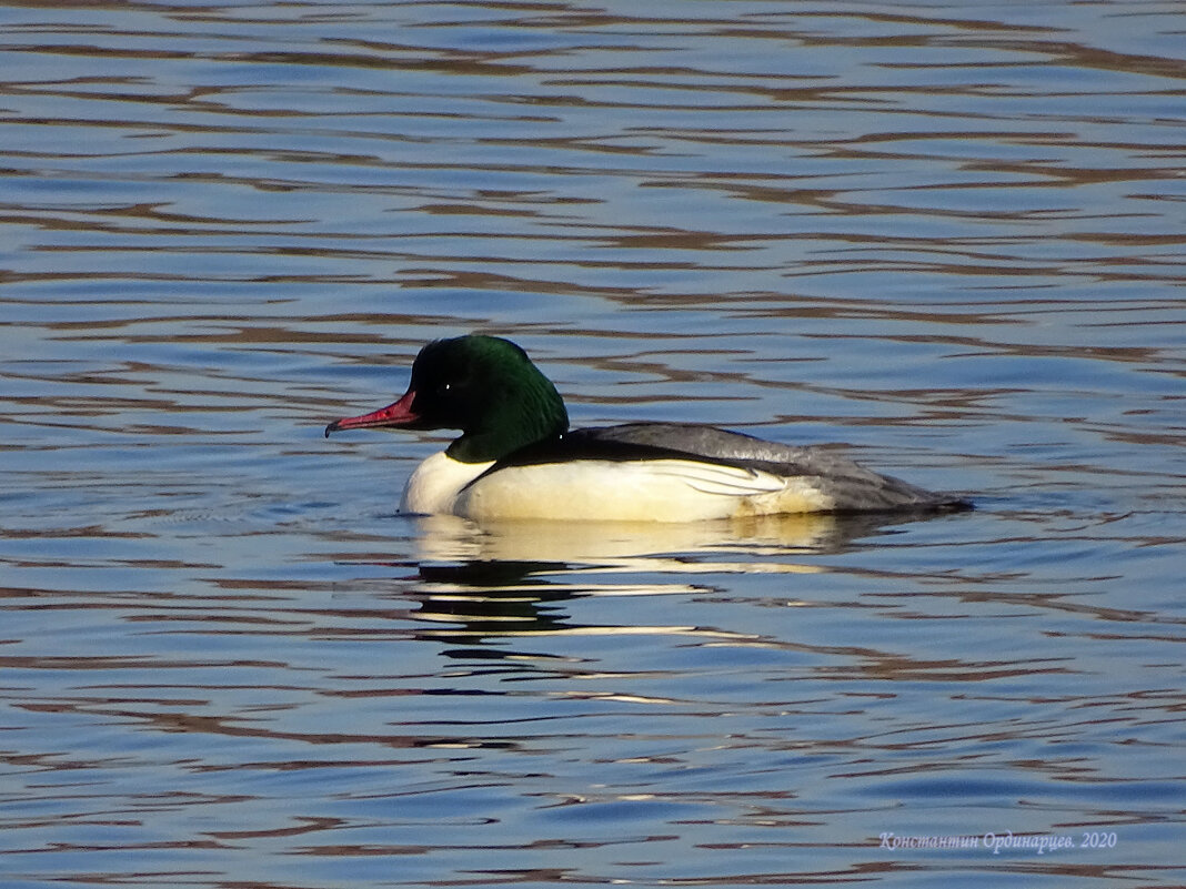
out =
[[[460,429],[408,479],[402,512],[495,519],[696,522],[810,512],[955,511],[958,497],[829,450],[693,423],[568,429],[551,382],[510,340],[425,346],[394,404],[342,429]]]

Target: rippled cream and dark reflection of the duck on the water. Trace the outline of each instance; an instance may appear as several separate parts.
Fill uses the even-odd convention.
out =
[[[464,658],[505,658],[491,645],[538,634],[716,635],[695,626],[588,626],[561,605],[585,596],[706,594],[694,575],[818,574],[812,556],[898,522],[893,516],[769,516],[686,525],[656,523],[505,522],[478,525],[453,516],[417,523],[417,635],[461,650]],[[788,590],[789,601],[793,600]],[[793,603],[793,601],[791,601]],[[479,647],[485,646],[485,647]],[[522,653],[517,653],[522,657]]]

